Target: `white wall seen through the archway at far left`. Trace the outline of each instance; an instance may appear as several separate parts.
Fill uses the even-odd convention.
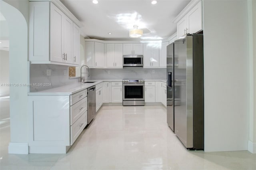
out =
[[[2,86],[9,82],[9,51],[0,50],[0,97],[10,95],[10,87]]]

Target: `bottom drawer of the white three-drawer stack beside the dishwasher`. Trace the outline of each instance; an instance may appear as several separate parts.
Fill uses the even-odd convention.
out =
[[[72,145],[79,134],[84,130],[87,125],[87,111],[70,127],[70,145]]]

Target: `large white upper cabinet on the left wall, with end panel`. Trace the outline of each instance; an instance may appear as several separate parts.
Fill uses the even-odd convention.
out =
[[[29,10],[29,61],[79,65],[79,27],[52,2],[29,2]]]

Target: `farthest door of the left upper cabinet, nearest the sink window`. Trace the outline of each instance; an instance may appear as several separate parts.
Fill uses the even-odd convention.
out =
[[[73,63],[80,65],[80,31],[73,23]]]

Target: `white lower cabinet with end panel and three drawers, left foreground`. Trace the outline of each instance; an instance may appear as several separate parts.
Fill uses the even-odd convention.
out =
[[[28,96],[29,153],[66,153],[87,125],[87,89]]]

